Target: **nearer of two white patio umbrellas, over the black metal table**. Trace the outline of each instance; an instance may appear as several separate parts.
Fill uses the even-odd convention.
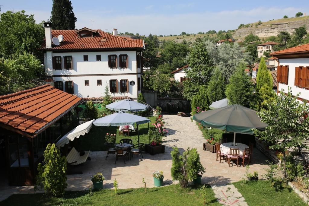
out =
[[[150,122],[149,119],[125,113],[124,111],[118,111],[114,114],[101,117],[93,122],[95,126],[123,126],[123,125],[133,125],[136,123],[136,131],[138,136],[138,144],[139,144],[139,134],[138,134],[138,125]]]

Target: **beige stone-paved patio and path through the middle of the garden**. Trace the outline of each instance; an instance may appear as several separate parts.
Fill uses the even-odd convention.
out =
[[[227,183],[239,181],[244,177],[245,167],[232,166],[225,162],[216,161],[216,154],[203,150],[205,139],[195,122],[189,117],[180,117],[177,115],[163,115],[165,126],[168,129],[168,135],[164,139],[165,153],[150,155],[143,154],[142,161],[138,156],[132,160],[125,161],[122,158],[115,163],[115,156],[110,154],[105,160],[106,152],[91,152],[91,161],[83,165],[76,166],[77,170],[82,170],[83,174],[67,175],[67,190],[87,190],[91,183],[91,175],[96,172],[102,172],[105,176],[104,188],[113,188],[113,180],[117,179],[119,188],[136,188],[143,187],[142,178],[145,178],[147,187],[154,187],[152,172],[162,170],[164,174],[164,184],[169,185],[176,183],[171,178],[171,150],[177,146],[180,153],[188,147],[197,148],[200,154],[201,162],[206,168],[203,174],[202,182],[215,186],[226,185]],[[80,137],[83,138],[83,137]],[[264,173],[266,157],[254,148],[250,171],[258,171],[259,176]],[[234,164],[235,165],[235,164]],[[1,197],[4,199],[12,193],[33,193],[33,187],[1,187]]]

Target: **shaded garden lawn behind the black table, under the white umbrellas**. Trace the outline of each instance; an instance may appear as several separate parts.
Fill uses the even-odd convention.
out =
[[[149,117],[150,123],[149,128],[153,125],[151,123],[155,123],[156,116]],[[81,136],[78,138],[78,151],[84,150],[91,150],[91,151],[102,151],[105,150],[105,135],[106,133],[113,133],[116,134],[116,143],[119,143],[119,141],[123,138],[130,138],[133,140],[133,144],[138,144],[138,138],[136,132],[130,132],[130,136],[122,136],[119,135],[118,126],[113,127],[101,127],[101,126],[92,126],[90,129],[90,132],[88,134],[85,134],[84,136]],[[136,125],[134,125],[134,128],[136,128]],[[138,125],[138,133],[139,133],[139,141],[140,143],[149,143],[148,138],[148,124],[139,124]]]

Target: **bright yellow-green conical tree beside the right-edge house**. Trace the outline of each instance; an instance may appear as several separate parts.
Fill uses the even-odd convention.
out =
[[[266,107],[266,102],[275,98],[273,91],[273,78],[266,67],[264,57],[261,58],[259,69],[256,74],[256,97],[258,101],[258,110]]]

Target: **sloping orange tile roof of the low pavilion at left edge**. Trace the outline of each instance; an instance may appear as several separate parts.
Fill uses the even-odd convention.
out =
[[[57,120],[82,101],[81,98],[45,84],[0,96],[0,124],[31,136]]]

